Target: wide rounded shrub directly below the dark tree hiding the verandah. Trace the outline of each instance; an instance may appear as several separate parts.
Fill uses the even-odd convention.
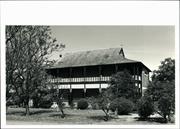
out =
[[[117,109],[118,115],[127,115],[132,112],[134,104],[132,101],[125,98],[118,98],[111,102],[110,110],[115,111]]]

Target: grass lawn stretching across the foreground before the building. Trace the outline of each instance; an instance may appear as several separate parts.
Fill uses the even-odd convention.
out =
[[[24,108],[8,108],[6,113],[7,124],[165,124],[160,122],[161,118],[151,118],[147,121],[138,119],[137,114],[129,114],[111,118],[104,121],[104,112],[101,110],[76,110],[64,109],[65,118],[61,113],[53,109],[30,108],[30,116],[25,116]],[[171,124],[171,123],[168,123]],[[173,124],[173,123],[172,123]]]

